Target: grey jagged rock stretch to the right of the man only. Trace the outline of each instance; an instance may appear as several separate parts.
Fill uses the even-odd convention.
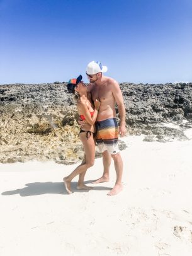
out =
[[[121,83],[120,87],[131,133],[181,137],[174,129],[159,127],[159,124],[176,122],[181,127],[192,127],[192,83]]]

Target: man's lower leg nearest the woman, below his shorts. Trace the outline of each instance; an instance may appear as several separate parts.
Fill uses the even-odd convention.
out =
[[[103,158],[103,176],[101,178],[98,178],[98,180],[94,181],[93,184],[108,182],[110,180],[111,155],[106,150],[102,153],[102,158]]]

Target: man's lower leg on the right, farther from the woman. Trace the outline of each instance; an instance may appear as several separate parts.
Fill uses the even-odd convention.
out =
[[[115,187],[111,189],[108,195],[116,195],[119,192],[121,192],[121,190],[123,189],[122,182],[121,182],[122,173],[123,173],[123,161],[120,153],[111,154],[111,157],[114,160],[115,171],[116,171],[116,182],[115,182]]]

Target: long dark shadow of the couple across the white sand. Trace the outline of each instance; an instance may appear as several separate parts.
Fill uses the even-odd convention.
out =
[[[88,180],[85,183],[91,183],[93,180]],[[63,182],[33,182],[25,184],[26,187],[22,189],[4,191],[1,195],[16,195],[20,194],[21,197],[28,197],[30,195],[43,195],[43,194],[64,194],[69,195],[65,190]],[[71,189],[73,192],[89,192],[89,190],[76,189],[77,182],[71,182]],[[111,190],[111,187],[94,187],[94,190]]]

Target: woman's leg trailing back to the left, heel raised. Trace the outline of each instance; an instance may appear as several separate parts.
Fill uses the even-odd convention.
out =
[[[86,162],[82,161],[81,165],[77,166],[77,168],[67,177],[64,178],[64,183],[66,190],[69,194],[72,193],[71,191],[71,180],[79,175],[80,173],[86,172],[86,170],[94,165],[94,156],[95,156],[95,144],[93,135],[87,139],[86,132],[82,132],[79,134],[79,137],[82,141],[84,146],[84,153],[86,156]]]

